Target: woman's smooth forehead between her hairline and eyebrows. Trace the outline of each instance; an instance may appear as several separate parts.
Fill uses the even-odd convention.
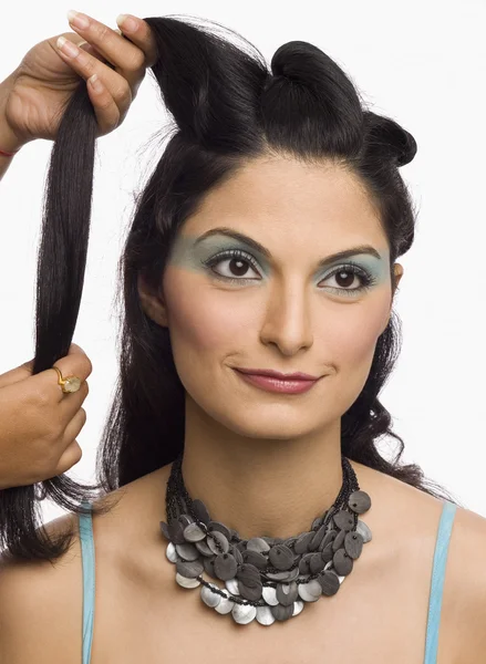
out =
[[[288,159],[256,162],[236,172],[204,195],[180,232],[194,237],[218,226],[266,246],[281,237],[387,246],[379,211],[354,175]]]

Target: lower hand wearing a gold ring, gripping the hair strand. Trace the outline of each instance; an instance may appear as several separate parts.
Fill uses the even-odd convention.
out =
[[[86,422],[81,407],[89,394],[92,364],[71,344],[56,366],[81,386],[65,394],[55,371],[32,375],[32,362],[0,375],[0,489],[29,486],[69,470],[82,457],[76,436]]]

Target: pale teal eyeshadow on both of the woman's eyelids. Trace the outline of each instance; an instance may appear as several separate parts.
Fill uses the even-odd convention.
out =
[[[196,240],[197,236],[193,237],[179,235],[173,246],[168,262],[186,270],[205,272],[206,268],[203,262],[213,256],[216,256],[221,251],[226,251],[227,249],[242,249],[251,256],[255,256],[258,264],[263,271],[270,271],[270,266],[267,258],[261,256],[260,252],[256,251],[252,247],[248,247],[245,242],[237,241],[225,236],[213,236],[197,245]],[[329,266],[322,270],[322,274],[319,276],[319,279],[322,279],[327,272],[332,270],[332,268],[347,262],[356,263],[370,272],[370,274],[376,280],[376,286],[384,282],[389,277],[387,256],[384,256],[379,260],[374,256],[356,253],[348,259],[329,263]]]

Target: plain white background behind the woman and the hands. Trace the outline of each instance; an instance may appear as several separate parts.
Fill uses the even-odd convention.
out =
[[[395,309],[404,340],[381,401],[405,442],[403,459],[418,463],[468,509],[486,516],[486,3],[9,3],[2,17],[0,80],[35,43],[71,30],[69,9],[113,29],[122,12],[210,19],[237,30],[268,62],[282,43],[309,41],[344,69],[374,112],[413,134],[418,152],[401,173],[420,214],[415,242],[399,259],[405,274]],[[83,457],[69,471],[82,481],[95,479],[95,449],[117,375],[116,263],[133,196],[158,156],[145,144],[167,120],[147,75],[125,122],[97,142],[87,270],[73,339],[94,367],[83,405],[87,422],[77,438]],[[33,357],[37,248],[51,146],[48,141],[24,146],[0,184],[0,373]],[[394,444],[381,448],[387,456]],[[44,521],[63,513],[48,501],[42,510]]]

